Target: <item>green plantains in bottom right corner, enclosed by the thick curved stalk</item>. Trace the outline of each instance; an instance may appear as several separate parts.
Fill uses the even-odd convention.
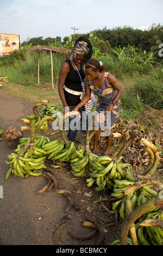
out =
[[[163,221],[163,215],[159,214],[158,208],[147,212],[139,220],[139,223],[144,220],[155,219]],[[163,245],[163,228],[137,225],[136,227],[137,241],[139,245]]]

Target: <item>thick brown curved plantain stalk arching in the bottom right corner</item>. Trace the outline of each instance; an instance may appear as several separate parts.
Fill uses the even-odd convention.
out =
[[[131,227],[131,224],[134,223],[140,216],[145,214],[147,211],[154,208],[162,208],[163,199],[161,198],[152,198],[147,202],[137,206],[131,213],[125,218],[121,225],[120,231],[120,245],[127,245],[128,231]]]

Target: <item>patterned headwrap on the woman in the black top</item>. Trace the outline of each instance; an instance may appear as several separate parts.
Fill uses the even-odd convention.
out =
[[[85,56],[89,53],[90,49],[87,47],[87,42],[79,41],[77,42],[72,50],[71,58],[75,58],[78,54],[85,54]]]

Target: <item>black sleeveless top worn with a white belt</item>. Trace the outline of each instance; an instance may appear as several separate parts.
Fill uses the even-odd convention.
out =
[[[70,72],[68,72],[65,80],[65,86],[71,90],[82,92],[82,84],[81,84],[80,76],[82,77],[82,80],[84,80],[85,72],[83,69],[83,65],[80,65],[80,70],[79,70],[80,76],[79,76],[78,71],[76,71],[73,68],[70,59],[66,59],[65,62],[68,63],[70,68]],[[73,95],[71,93],[68,93],[66,92],[65,89],[64,89],[64,93],[65,93],[65,99],[68,106],[77,106],[81,101],[79,95]]]

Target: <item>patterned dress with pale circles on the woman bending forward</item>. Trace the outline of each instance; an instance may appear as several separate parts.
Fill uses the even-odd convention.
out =
[[[106,111],[107,107],[116,97],[116,89],[111,85],[107,84],[108,72],[104,75],[104,85],[101,88],[96,88],[89,81],[89,86],[92,92],[98,96],[95,125],[100,125],[101,130],[112,129],[115,127],[120,112],[121,102],[117,101],[113,107],[113,111]]]

